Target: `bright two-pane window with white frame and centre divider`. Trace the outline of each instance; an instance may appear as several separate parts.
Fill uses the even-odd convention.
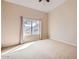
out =
[[[23,18],[23,36],[39,35],[41,22],[35,19]]]

